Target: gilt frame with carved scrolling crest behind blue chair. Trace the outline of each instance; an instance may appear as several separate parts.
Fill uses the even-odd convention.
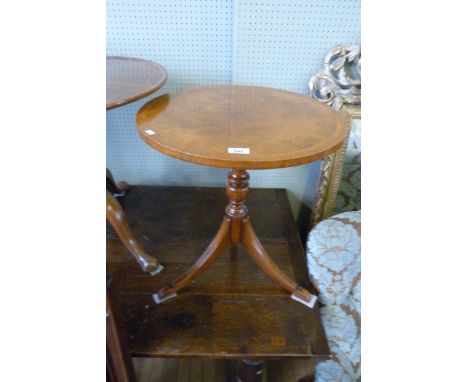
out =
[[[313,203],[311,225],[334,214],[351,122],[361,117],[361,48],[338,45],[325,56],[324,69],[309,81],[310,96],[345,114],[347,137],[334,154],[324,158]]]

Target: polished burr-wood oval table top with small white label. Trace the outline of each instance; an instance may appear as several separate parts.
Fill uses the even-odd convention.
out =
[[[346,124],[331,107],[257,86],[187,88],[155,98],[137,113],[141,138],[192,163],[235,169],[296,166],[343,143]]]

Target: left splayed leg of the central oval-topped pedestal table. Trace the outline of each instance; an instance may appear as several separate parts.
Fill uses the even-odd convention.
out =
[[[229,221],[223,219],[216,236],[206,248],[205,252],[198,258],[186,272],[174,280],[170,285],[161,288],[153,295],[154,301],[159,304],[169,298],[175,297],[177,292],[200,276],[221,256],[229,243]]]

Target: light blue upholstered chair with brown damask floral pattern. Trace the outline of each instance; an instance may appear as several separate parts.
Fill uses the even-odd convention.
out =
[[[332,358],[320,362],[316,382],[361,378],[361,211],[315,225],[307,240],[309,277],[319,294]]]

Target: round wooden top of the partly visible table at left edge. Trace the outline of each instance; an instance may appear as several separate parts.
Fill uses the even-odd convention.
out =
[[[137,101],[160,89],[166,70],[155,62],[131,57],[106,57],[106,109]]]

